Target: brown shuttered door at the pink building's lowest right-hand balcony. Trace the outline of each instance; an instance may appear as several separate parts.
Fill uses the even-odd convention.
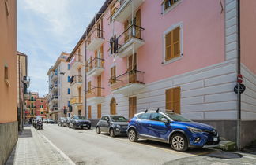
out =
[[[128,72],[129,72],[129,83],[135,83],[137,79],[136,75],[136,69],[137,69],[137,59],[136,59],[136,53],[134,55],[128,57]]]

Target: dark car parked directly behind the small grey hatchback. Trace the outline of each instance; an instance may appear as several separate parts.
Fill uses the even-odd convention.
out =
[[[73,129],[83,129],[85,127],[91,129],[91,126],[91,121],[87,120],[85,116],[72,116],[70,119],[70,127]]]

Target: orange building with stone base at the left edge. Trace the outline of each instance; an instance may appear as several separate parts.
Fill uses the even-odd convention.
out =
[[[0,164],[17,142],[17,2],[0,2]]]

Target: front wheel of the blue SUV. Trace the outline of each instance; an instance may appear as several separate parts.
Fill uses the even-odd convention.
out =
[[[171,148],[175,151],[184,152],[188,148],[188,142],[183,134],[174,134],[171,137]]]

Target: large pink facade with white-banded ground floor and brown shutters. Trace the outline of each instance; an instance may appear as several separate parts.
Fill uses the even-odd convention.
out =
[[[82,47],[88,119],[174,110],[247,145],[256,134],[254,3],[107,0],[67,60]],[[239,73],[247,87],[240,97]]]

